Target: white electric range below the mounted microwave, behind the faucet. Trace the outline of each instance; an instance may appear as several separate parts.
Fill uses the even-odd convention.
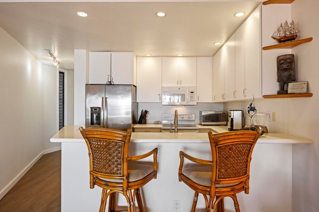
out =
[[[161,132],[175,132],[174,126],[175,114],[162,114]],[[177,114],[177,130],[179,133],[198,133],[198,127],[195,125],[195,114]]]

